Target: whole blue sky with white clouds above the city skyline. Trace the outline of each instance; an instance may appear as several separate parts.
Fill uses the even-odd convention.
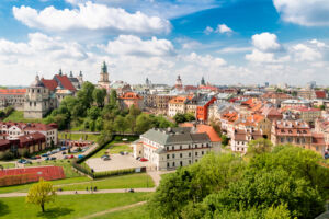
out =
[[[328,0],[1,0],[0,84],[329,84]]]

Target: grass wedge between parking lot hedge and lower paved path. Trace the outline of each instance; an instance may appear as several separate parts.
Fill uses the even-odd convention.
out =
[[[90,186],[97,186],[98,189],[145,188],[155,187],[155,183],[148,174],[137,173],[131,175],[111,176],[103,180],[89,181],[81,184],[63,185],[58,187],[63,188],[63,191],[84,191]]]

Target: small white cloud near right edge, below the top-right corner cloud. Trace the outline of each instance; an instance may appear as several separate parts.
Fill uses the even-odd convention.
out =
[[[297,44],[292,48],[292,51],[295,55],[296,61],[316,61],[322,58],[320,51],[306,46],[305,44]]]

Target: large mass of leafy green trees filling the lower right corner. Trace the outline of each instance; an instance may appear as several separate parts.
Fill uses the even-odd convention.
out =
[[[318,154],[252,143],[249,159],[209,153],[163,176],[148,201],[151,218],[310,219],[324,211],[329,170]]]

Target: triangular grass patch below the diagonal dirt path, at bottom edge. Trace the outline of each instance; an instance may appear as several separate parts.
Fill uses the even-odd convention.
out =
[[[136,206],[129,209],[110,212],[92,219],[149,219],[146,205]]]

